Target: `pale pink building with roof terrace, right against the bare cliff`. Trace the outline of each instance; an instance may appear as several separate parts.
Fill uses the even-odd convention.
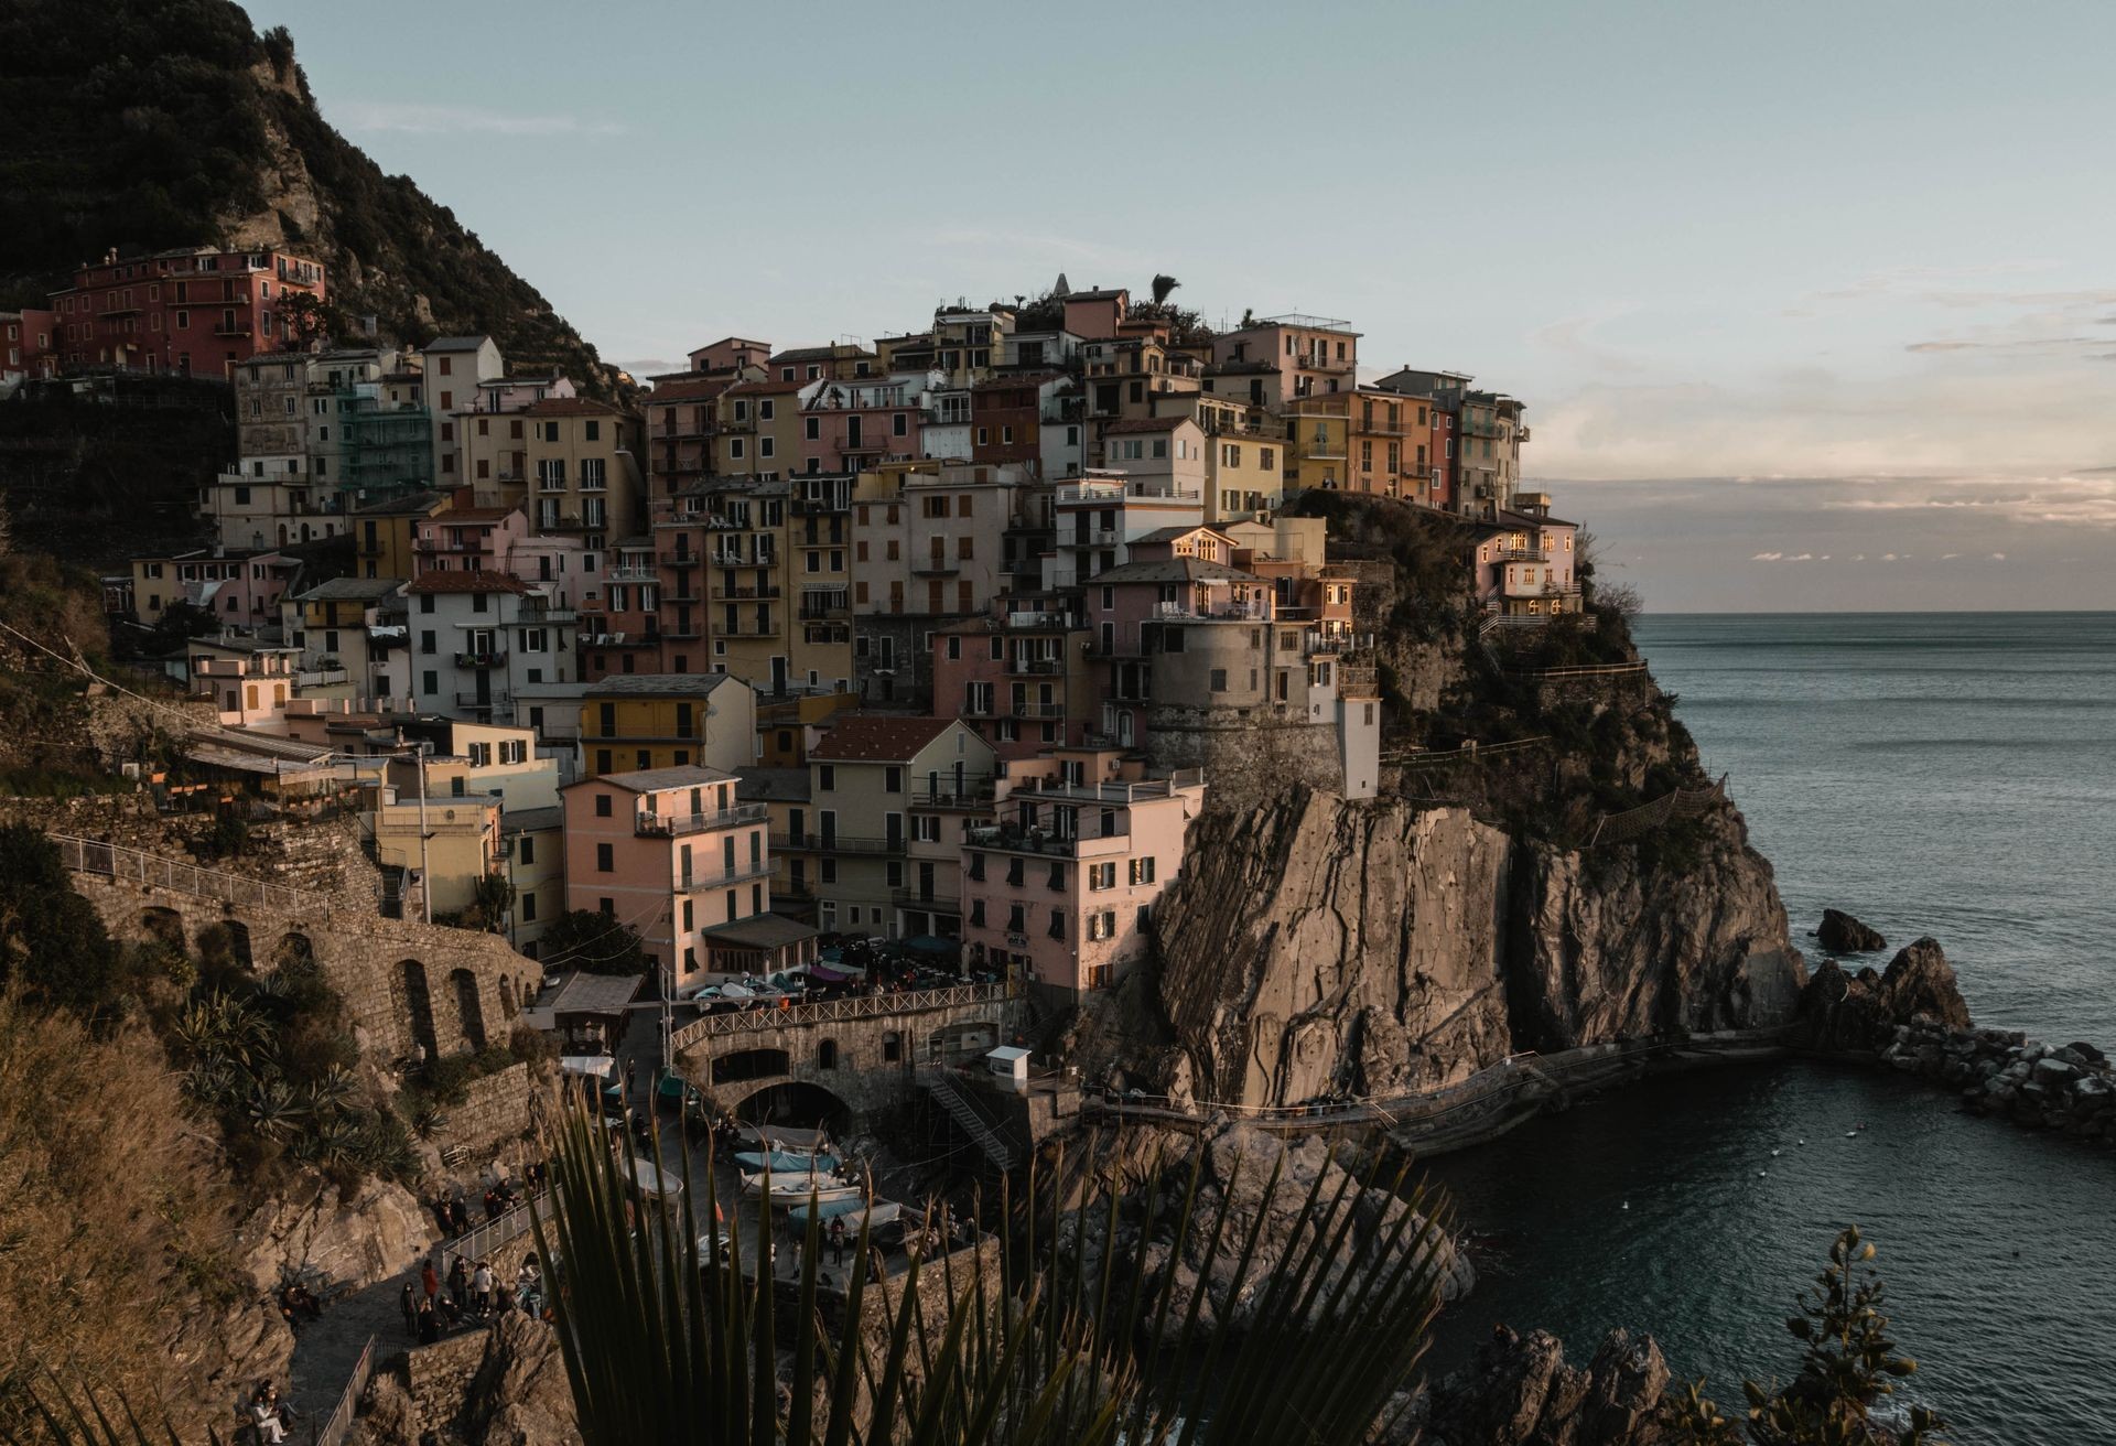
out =
[[[1183,870],[1204,775],[1136,777],[1115,752],[1060,749],[963,843],[963,944],[1060,993],[1109,989],[1145,957],[1153,906]]]

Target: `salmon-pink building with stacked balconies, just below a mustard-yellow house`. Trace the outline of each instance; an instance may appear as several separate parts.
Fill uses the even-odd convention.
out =
[[[561,790],[565,906],[622,919],[673,968],[677,993],[715,968],[713,932],[770,912],[766,807],[717,769],[605,773]],[[796,929],[810,938],[806,929]],[[789,936],[787,959],[813,955]]]

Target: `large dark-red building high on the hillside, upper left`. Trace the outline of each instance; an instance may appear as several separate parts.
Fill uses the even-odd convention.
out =
[[[51,294],[59,364],[229,377],[237,362],[279,351],[290,337],[286,303],[324,301],[324,267],[290,252],[157,252],[118,260],[110,252]]]

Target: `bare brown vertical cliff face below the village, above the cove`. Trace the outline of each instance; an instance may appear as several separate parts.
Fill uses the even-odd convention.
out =
[[[1157,921],[1162,1086],[1386,1097],[1519,1050],[1790,1023],[1805,968],[1771,866],[1718,830],[1703,866],[1650,874],[1401,798],[1206,815]]]

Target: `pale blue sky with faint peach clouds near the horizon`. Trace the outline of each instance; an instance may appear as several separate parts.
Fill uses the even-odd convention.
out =
[[[1166,271],[1524,398],[1653,610],[2116,608],[2116,4],[248,11],[635,373]]]

